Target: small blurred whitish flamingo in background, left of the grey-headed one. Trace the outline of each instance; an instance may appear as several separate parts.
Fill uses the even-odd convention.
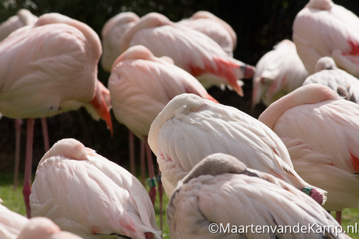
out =
[[[252,108],[261,101],[268,107],[278,98],[301,87],[308,76],[294,43],[288,39],[264,54],[255,69]]]

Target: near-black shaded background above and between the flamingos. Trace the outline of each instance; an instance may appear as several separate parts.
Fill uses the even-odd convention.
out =
[[[140,17],[149,12],[159,12],[169,17],[171,21],[177,22],[198,10],[206,10],[222,18],[236,32],[237,47],[234,58],[255,66],[261,56],[271,50],[276,43],[285,38],[291,39],[294,17],[307,3],[307,0],[0,0],[0,22],[6,21],[21,8],[30,10],[36,16],[48,12],[58,12],[88,24],[101,37],[101,29],[105,22],[123,11],[132,11]],[[337,0],[334,3],[359,14],[357,0]],[[98,79],[105,86],[107,86],[108,77],[109,74],[104,72],[99,65]],[[254,110],[250,108],[251,79],[245,81],[243,89],[244,97],[240,97],[228,89],[221,91],[216,87],[209,89],[208,92],[218,102],[236,107],[257,118],[265,108],[263,105],[258,105]],[[128,168],[127,129],[124,125],[116,122],[114,117],[112,117],[113,138],[110,137],[105,123],[93,121],[84,109],[50,117],[47,122],[50,147],[62,138],[73,137],[109,160]],[[35,121],[34,134],[33,169],[44,155],[39,120]],[[25,162],[25,137],[26,120],[24,120],[22,128],[21,172],[24,170]],[[14,144],[14,121],[3,117],[0,120],[0,172],[12,172]]]

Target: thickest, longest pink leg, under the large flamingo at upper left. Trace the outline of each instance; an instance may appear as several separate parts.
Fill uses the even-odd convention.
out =
[[[31,209],[29,203],[29,196],[31,193],[31,168],[32,168],[32,146],[34,137],[34,119],[28,118],[27,120],[27,133],[26,133],[26,157],[25,157],[25,175],[24,175],[24,201],[26,207],[26,215],[31,217]]]

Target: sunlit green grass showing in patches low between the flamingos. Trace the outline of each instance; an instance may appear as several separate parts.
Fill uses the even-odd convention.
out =
[[[0,198],[4,201],[3,205],[9,208],[12,211],[15,211],[19,214],[26,215],[25,204],[23,199],[23,186],[20,185],[17,189],[13,189],[13,178],[12,174],[0,174]],[[22,178],[19,180],[22,182]],[[166,206],[168,204],[168,197],[164,193],[164,216],[163,216],[163,238],[169,238],[168,225],[166,221]],[[343,198],[345,200],[345,198]],[[155,213],[156,213],[156,223],[159,226],[160,217],[159,217],[159,199],[158,194],[156,197],[155,203]],[[346,230],[347,226],[353,226],[359,230],[359,209],[345,209],[343,211],[343,229]],[[358,232],[349,232],[349,235],[352,238],[359,238]]]

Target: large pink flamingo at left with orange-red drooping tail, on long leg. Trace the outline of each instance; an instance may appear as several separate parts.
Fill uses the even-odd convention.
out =
[[[56,21],[62,23],[51,24]],[[19,28],[0,43],[0,112],[28,118],[23,190],[28,217],[34,118],[83,106],[95,120],[105,120],[112,134],[104,86],[97,80],[101,52],[89,26],[56,13],[39,17],[34,26]]]

